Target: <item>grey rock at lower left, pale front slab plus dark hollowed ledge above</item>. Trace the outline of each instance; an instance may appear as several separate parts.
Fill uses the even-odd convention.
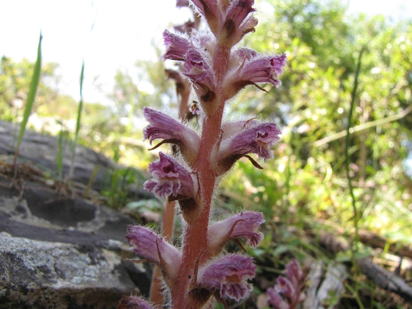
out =
[[[127,260],[133,223],[37,185],[21,197],[0,186],[0,308],[116,308],[122,295],[148,295],[151,269]]]

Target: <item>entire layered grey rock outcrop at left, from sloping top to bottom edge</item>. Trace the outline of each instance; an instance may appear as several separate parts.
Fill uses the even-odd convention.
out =
[[[0,155],[9,163],[13,132],[14,125],[0,121]],[[55,172],[56,148],[56,137],[26,131],[19,160]],[[64,158],[70,158],[68,150]],[[96,165],[99,191],[115,165],[80,146],[74,181],[88,183]],[[35,170],[29,167],[14,186],[0,178],[0,309],[116,308],[123,295],[149,296],[151,267],[131,262],[134,253],[124,240],[135,220],[62,192],[41,173],[41,179],[30,177]]]

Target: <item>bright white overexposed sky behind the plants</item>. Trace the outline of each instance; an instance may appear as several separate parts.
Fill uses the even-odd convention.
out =
[[[0,56],[34,61],[41,29],[43,61],[60,64],[61,92],[79,99],[84,59],[84,100],[109,103],[106,94],[112,90],[116,69],[133,72],[137,59],[156,60],[151,41],[159,46],[164,29],[186,21],[189,14],[175,4],[175,0],[0,0]],[[412,0],[352,0],[349,8],[395,19],[412,17]]]

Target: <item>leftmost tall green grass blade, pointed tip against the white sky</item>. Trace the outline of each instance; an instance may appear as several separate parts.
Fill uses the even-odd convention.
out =
[[[29,116],[31,113],[31,108],[33,107],[34,99],[36,98],[37,86],[39,86],[40,73],[41,73],[41,40],[42,39],[43,39],[43,36],[41,35],[41,31],[40,31],[39,46],[37,47],[36,64],[34,64],[33,76],[31,76],[29,95],[27,96],[26,107],[24,108],[23,121],[21,121],[20,123],[19,138],[17,138],[16,151],[14,153],[14,161],[13,161],[14,168],[16,168],[16,161],[17,161],[17,156],[19,156],[20,144],[21,144],[21,141],[23,140],[24,131],[26,131],[27,121],[29,121]]]

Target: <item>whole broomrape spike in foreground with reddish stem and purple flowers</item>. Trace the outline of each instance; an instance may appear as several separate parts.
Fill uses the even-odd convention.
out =
[[[144,138],[150,143],[161,140],[179,149],[173,156],[159,153],[159,160],[149,165],[153,177],[144,183],[157,197],[177,201],[184,229],[181,248],[168,243],[155,231],[144,226],[129,226],[126,240],[131,250],[155,263],[161,270],[164,293],[169,308],[213,308],[215,300],[239,301],[248,298],[256,265],[252,258],[225,253],[230,240],[241,245],[243,238],[256,247],[263,234],[258,227],[265,222],[262,213],[245,211],[223,221],[211,220],[211,207],[221,177],[238,159],[255,153],[264,160],[273,158],[271,147],[281,131],[274,123],[256,118],[223,121],[226,102],[242,88],[258,83],[278,87],[286,64],[286,55],[261,55],[238,48],[244,35],[258,24],[253,16],[253,0],[191,0],[208,31],[191,34],[164,31],[164,59],[181,61],[183,74],[196,92],[199,104],[199,131],[171,116],[144,108],[149,125]],[[241,245],[242,247],[242,245]],[[243,247],[242,247],[243,248]],[[160,308],[161,306],[159,306]],[[156,308],[137,297],[124,298],[119,308]]]

